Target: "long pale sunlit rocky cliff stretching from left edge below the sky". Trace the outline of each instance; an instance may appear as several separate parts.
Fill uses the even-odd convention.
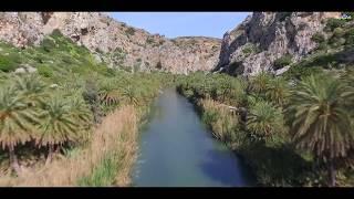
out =
[[[2,12],[0,40],[15,46],[39,44],[60,30],[85,45],[112,67],[131,66],[143,71],[173,73],[210,71],[218,63],[221,40],[201,36],[166,39],[128,27],[97,12]]]

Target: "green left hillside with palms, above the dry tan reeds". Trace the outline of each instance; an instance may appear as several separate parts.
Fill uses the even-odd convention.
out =
[[[0,168],[8,159],[14,176],[32,157],[37,163],[30,167],[43,155],[50,167],[54,155],[69,158],[71,150],[87,148],[104,117],[124,105],[144,115],[169,75],[110,69],[58,30],[40,46],[0,43],[0,49],[7,52],[0,55]],[[37,72],[14,72],[27,65]]]

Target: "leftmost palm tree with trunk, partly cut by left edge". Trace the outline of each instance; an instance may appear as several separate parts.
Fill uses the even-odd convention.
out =
[[[14,153],[19,143],[31,139],[33,125],[38,123],[34,108],[29,108],[25,97],[13,85],[0,88],[0,143],[9,149],[11,167],[20,174],[20,165]]]

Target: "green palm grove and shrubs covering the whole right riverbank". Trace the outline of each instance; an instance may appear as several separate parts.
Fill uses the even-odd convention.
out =
[[[354,70],[352,20],[330,19],[317,48],[280,76],[248,80],[196,73],[178,91],[194,102],[214,135],[242,155],[268,186],[353,185]],[[319,40],[321,38],[321,40]],[[326,39],[324,39],[326,38]]]

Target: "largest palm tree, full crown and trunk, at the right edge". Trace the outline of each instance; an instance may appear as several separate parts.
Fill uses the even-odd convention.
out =
[[[295,145],[312,151],[327,165],[330,186],[335,186],[336,165],[354,147],[350,108],[353,87],[330,75],[311,75],[291,91],[288,124]]]

